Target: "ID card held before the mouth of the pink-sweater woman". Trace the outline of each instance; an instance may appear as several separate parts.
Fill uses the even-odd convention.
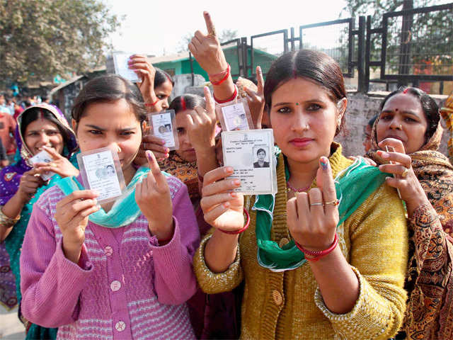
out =
[[[77,162],[84,188],[99,193],[98,203],[116,200],[125,189],[120,159],[117,152],[103,147],[77,154]]]

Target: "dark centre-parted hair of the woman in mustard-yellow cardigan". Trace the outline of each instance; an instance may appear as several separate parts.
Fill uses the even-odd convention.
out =
[[[264,84],[265,106],[270,112],[272,94],[286,81],[302,77],[311,79],[328,92],[334,103],[346,98],[343,72],[338,63],[326,53],[313,50],[299,50],[285,53],[270,65]],[[345,115],[337,128],[336,135],[343,129]]]

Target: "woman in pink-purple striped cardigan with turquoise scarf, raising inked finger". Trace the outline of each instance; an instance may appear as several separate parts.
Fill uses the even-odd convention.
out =
[[[199,232],[186,186],[154,155],[137,169],[145,108],[117,76],[89,81],[72,123],[81,152],[117,150],[127,191],[114,204],[69,177],[33,208],[21,255],[22,312],[59,327],[58,339],[193,339],[185,302],[195,293]]]

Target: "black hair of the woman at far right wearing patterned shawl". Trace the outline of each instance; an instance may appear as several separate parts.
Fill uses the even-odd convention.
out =
[[[395,96],[396,94],[411,94],[415,96],[415,98],[418,98],[418,101],[420,101],[420,105],[422,106],[423,113],[425,113],[426,121],[428,122],[428,128],[426,128],[425,132],[425,141],[428,141],[436,132],[437,125],[440,121],[439,106],[437,106],[435,100],[432,99],[432,97],[425,91],[417,89],[416,87],[401,86],[399,89],[391,92],[384,98],[381,103],[381,111],[389,98]]]

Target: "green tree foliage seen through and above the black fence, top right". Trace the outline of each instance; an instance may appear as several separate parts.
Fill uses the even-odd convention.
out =
[[[342,16],[372,16],[372,28],[382,26],[384,13],[446,4],[442,0],[347,0]],[[403,29],[402,16],[389,18],[387,28],[386,72],[401,73],[401,54],[407,53],[405,62],[409,74],[449,74],[452,64],[453,13],[434,11],[406,16]],[[371,36],[371,60],[380,60],[382,36]],[[403,52],[405,50],[406,52]],[[428,68],[427,68],[428,67]],[[425,71],[424,71],[425,70]]]

